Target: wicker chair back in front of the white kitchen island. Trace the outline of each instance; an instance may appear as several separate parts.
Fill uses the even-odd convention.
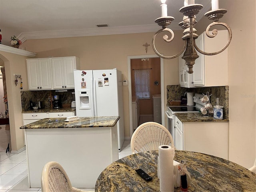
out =
[[[42,192],[85,192],[74,188],[60,164],[51,161],[45,164],[41,175]]]

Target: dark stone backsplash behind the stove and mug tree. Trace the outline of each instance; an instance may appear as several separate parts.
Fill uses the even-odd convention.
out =
[[[228,86],[218,87],[199,87],[199,88],[184,88],[180,85],[168,85],[167,86],[167,103],[170,100],[180,100],[181,96],[184,96],[185,92],[194,92],[200,94],[212,94],[210,96],[210,103],[212,106],[216,105],[216,98],[219,98],[220,106],[223,106],[224,118],[228,119]]]

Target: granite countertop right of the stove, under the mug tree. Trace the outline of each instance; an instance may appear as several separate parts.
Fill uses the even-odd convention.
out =
[[[181,122],[228,122],[228,119],[214,119],[202,113],[175,113]]]

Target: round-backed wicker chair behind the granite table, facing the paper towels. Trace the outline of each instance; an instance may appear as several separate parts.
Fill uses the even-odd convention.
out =
[[[160,145],[174,147],[172,135],[164,126],[156,122],[146,122],[138,126],[131,138],[132,153],[158,150]]]

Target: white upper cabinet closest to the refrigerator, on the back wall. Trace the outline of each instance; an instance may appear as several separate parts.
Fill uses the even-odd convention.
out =
[[[52,58],[52,86],[53,89],[74,88],[75,69],[79,69],[77,57]]]

